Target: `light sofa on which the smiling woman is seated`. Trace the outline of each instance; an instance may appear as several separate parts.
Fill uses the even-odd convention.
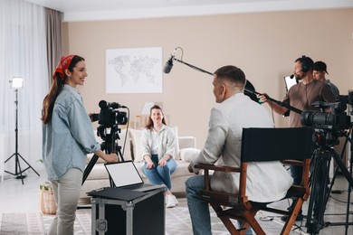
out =
[[[177,128],[175,127],[175,132],[177,136]],[[145,174],[142,173],[141,168],[141,156],[140,154],[140,136],[142,130],[129,129],[128,133],[125,129],[121,130],[119,134],[119,146],[121,148],[124,146],[125,139],[127,139],[125,144],[125,149],[121,149],[124,160],[133,160],[138,172],[141,175],[145,183],[148,183],[148,179]],[[190,174],[187,170],[187,166],[192,157],[198,155],[199,151],[196,149],[196,138],[194,136],[177,136],[176,145],[176,171],[172,174],[172,193],[177,195],[185,194],[185,182],[186,179],[194,174]],[[101,142],[101,140],[99,140]],[[92,155],[88,155],[88,163],[91,161]],[[97,163],[91,169],[91,173],[88,175],[85,183],[81,187],[80,204],[91,203],[90,197],[87,196],[88,192],[101,187],[110,186],[109,175],[104,167],[104,161],[99,159]]]

